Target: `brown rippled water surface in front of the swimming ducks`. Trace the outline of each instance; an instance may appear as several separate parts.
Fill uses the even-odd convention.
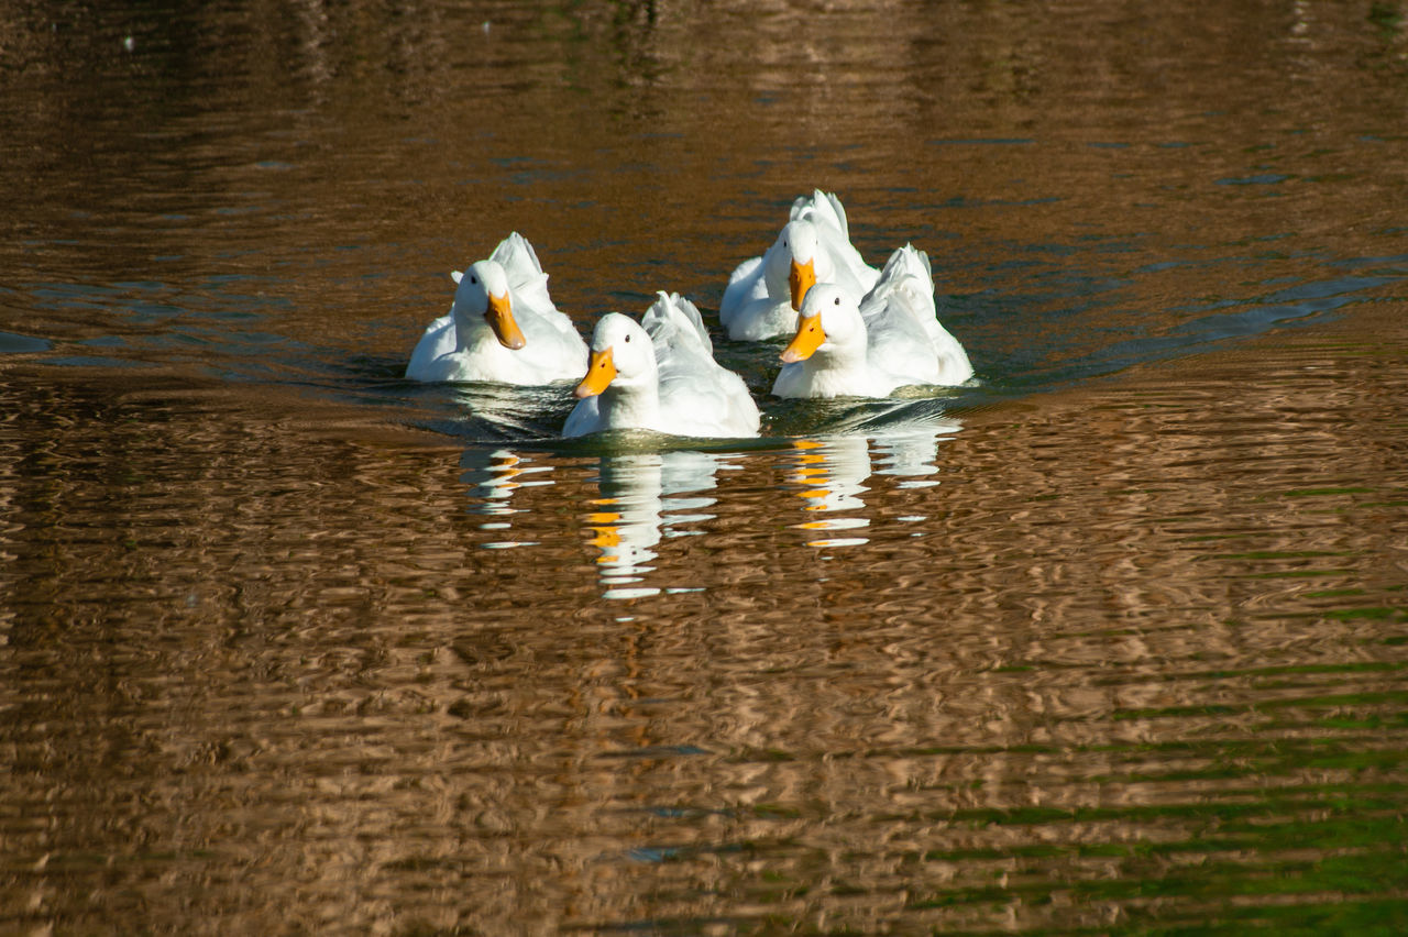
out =
[[[1393,895],[1401,369],[1266,363],[972,414],[918,478],[705,459],[636,570],[687,591],[610,601],[639,464],[497,456],[505,505],[438,449],[11,385],[10,920],[1101,929],[1338,906],[1328,854]],[[808,550],[817,466],[865,523]]]

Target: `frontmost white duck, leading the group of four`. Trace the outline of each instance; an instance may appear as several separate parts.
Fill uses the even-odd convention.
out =
[[[563,436],[608,429],[758,435],[758,404],[748,385],[714,360],[700,311],[677,293],[662,291],[641,324],[620,312],[603,315],[586,371]]]

